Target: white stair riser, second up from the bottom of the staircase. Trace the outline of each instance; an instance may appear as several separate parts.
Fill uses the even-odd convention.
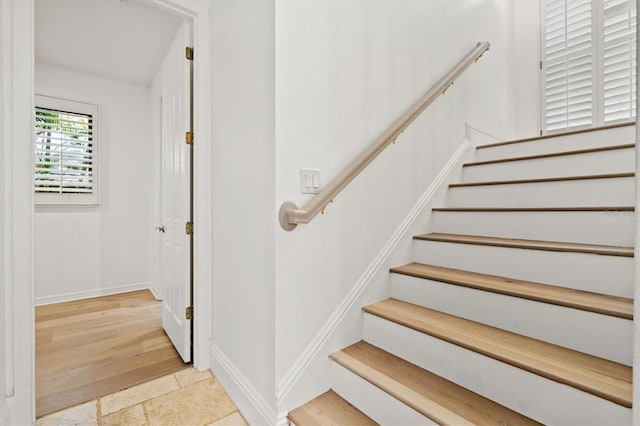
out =
[[[365,314],[367,342],[544,424],[631,424],[631,410]]]

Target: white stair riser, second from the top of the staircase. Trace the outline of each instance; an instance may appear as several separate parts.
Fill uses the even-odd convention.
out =
[[[509,179],[537,179],[562,176],[627,173],[635,169],[632,148],[600,151],[588,154],[563,155],[534,160],[467,166],[463,169],[464,182]]]

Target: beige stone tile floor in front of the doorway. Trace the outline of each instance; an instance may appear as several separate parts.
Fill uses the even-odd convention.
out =
[[[189,367],[36,421],[36,426],[246,426],[210,371]]]

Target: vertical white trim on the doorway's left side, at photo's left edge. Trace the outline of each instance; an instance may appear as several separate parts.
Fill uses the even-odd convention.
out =
[[[3,397],[10,424],[35,421],[33,309],[33,0],[2,0],[3,270],[10,305]]]

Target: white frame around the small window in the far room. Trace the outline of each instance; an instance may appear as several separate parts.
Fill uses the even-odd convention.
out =
[[[91,115],[92,117],[92,166],[93,166],[93,185],[90,193],[69,194],[69,193],[42,193],[36,192],[35,188],[35,132],[36,132],[36,108],[51,109],[60,112],[69,112],[72,114]],[[70,99],[63,99],[48,95],[35,94],[34,95],[34,109],[33,109],[33,138],[32,138],[32,152],[34,158],[34,168],[32,177],[34,181],[34,203],[38,207],[47,206],[86,206],[97,207],[100,205],[100,161],[99,161],[99,147],[100,147],[100,107],[96,104],[90,104],[86,102],[79,102]]]

